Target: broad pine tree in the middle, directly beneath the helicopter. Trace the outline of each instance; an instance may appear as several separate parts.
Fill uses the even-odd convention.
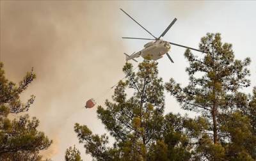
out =
[[[145,60],[137,73],[126,63],[123,71],[126,81],[116,86],[113,102],[106,100],[106,107],[97,109],[115,142],[111,147],[106,134],[92,134],[86,125],[76,123],[74,129],[86,153],[97,160],[189,160],[191,149],[182,132],[183,118],[164,116],[164,86],[157,77],[157,63]]]

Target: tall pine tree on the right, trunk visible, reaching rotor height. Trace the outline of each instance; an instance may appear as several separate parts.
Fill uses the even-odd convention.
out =
[[[182,88],[173,79],[165,86],[183,109],[197,112],[205,122],[199,131],[193,120],[187,122],[191,127],[191,140],[196,145],[195,158],[253,160],[255,135],[250,118],[241,110],[246,108],[246,95],[239,92],[239,89],[250,86],[247,68],[250,59],[234,59],[232,45],[222,43],[219,33],[208,33],[201,39],[199,47],[206,51],[201,56],[195,56],[190,50],[184,54],[189,61],[186,68],[188,86]],[[199,133],[195,135],[195,132]]]

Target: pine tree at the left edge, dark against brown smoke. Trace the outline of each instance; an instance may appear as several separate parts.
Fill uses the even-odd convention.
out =
[[[16,86],[4,77],[3,63],[0,63],[0,160],[39,160],[40,150],[47,149],[52,141],[38,132],[39,121],[29,119],[28,114],[10,119],[10,113],[28,111],[35,100],[31,96],[26,104],[20,101],[20,94],[35,79],[33,70]]]

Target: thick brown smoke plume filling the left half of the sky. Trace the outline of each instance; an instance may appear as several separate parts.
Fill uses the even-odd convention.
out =
[[[63,154],[77,142],[75,122],[88,125],[94,132],[103,132],[96,109],[89,111],[83,105],[109,89],[122,75],[124,47],[120,36],[124,27],[117,4],[100,1],[1,1],[0,4],[0,54],[6,77],[18,82],[32,66],[37,76],[22,99],[26,101],[29,95],[36,95],[29,114],[40,120],[40,130],[54,141],[44,156]]]

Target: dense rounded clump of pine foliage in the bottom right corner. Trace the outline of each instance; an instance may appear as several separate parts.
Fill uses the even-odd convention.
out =
[[[221,132],[228,134],[230,142],[223,140],[228,159],[237,160],[241,156],[255,159],[256,157],[256,137],[252,131],[250,118],[237,111],[226,119],[220,126]]]

